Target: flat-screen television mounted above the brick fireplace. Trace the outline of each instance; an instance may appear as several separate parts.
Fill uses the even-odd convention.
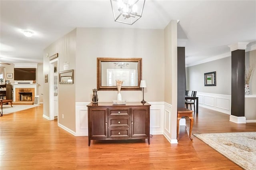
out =
[[[35,80],[36,68],[14,68],[14,80]]]

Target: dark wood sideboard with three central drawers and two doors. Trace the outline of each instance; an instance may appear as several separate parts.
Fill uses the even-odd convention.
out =
[[[150,144],[150,104],[126,102],[90,103],[88,107],[88,145],[91,140],[148,139]]]

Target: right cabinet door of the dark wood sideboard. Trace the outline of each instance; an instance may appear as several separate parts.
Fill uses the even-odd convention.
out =
[[[149,135],[148,107],[131,108],[131,137],[145,137]]]

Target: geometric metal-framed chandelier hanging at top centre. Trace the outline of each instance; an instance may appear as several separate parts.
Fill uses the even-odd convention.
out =
[[[132,25],[141,18],[145,0],[110,0],[116,22]]]

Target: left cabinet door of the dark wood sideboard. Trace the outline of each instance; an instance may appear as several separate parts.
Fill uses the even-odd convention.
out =
[[[107,108],[90,109],[90,136],[92,138],[108,137]]]

